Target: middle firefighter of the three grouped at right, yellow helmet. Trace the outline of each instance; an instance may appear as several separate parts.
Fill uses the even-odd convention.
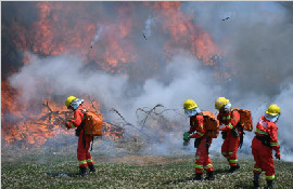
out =
[[[220,123],[220,131],[224,143],[221,146],[221,154],[228,160],[230,164],[229,173],[240,168],[238,163],[237,151],[240,145],[241,132],[238,130],[240,123],[240,114],[235,110],[231,110],[229,99],[219,97],[215,102],[215,108],[219,110],[217,119]]]

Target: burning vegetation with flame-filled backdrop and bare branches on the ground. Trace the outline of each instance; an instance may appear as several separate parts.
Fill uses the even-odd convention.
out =
[[[203,67],[213,67],[217,70],[221,62],[221,52],[212,37],[203,27],[184,15],[180,10],[180,2],[46,1],[4,2],[2,5],[8,8],[7,11],[13,12],[13,16],[5,16],[2,21],[3,146],[29,148],[41,146],[48,138],[56,135],[72,134],[63,126],[63,120],[69,119],[71,112],[64,110],[64,98],[55,96],[55,91],[50,86],[43,86],[46,96],[38,103],[37,99],[35,103],[20,99],[18,94],[22,94],[22,91],[11,87],[9,77],[30,63],[34,58],[30,53],[41,57],[78,54],[84,58],[85,66],[113,75],[124,72],[136,82],[144,81],[153,75],[152,72],[160,70],[161,63],[168,64],[178,49],[201,59]],[[4,14],[8,14],[5,10]],[[109,10],[111,13],[106,12]],[[27,12],[31,14],[26,15]],[[155,17],[155,23],[149,28],[152,35],[144,40],[145,36],[143,38],[141,32],[144,21],[150,15]],[[161,40],[154,41],[152,38]],[[154,55],[143,53],[152,48],[150,43],[160,46],[160,51],[154,49],[151,52]],[[215,77],[226,81],[231,79],[228,72],[222,75],[215,71]],[[102,105],[99,102],[93,103],[92,107],[97,107],[99,111]],[[149,121],[148,125],[152,131],[158,132],[156,140],[164,140],[163,132],[160,133],[156,126],[162,124],[161,127],[171,132],[177,123],[164,118],[162,113],[166,112],[166,109],[157,112],[156,108],[157,106],[151,110],[138,108],[137,113],[144,116],[138,119],[142,122],[137,125],[124,119],[123,124],[115,121],[104,122],[104,135],[120,138],[128,125],[148,138],[145,125]],[[118,113],[117,110],[114,112]],[[152,121],[149,119],[151,116]],[[119,117],[123,118],[122,114]]]

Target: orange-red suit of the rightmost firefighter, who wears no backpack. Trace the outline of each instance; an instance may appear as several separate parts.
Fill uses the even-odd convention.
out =
[[[268,121],[263,116],[256,125],[256,136],[252,141],[252,153],[255,161],[253,172],[262,173],[262,171],[265,171],[267,180],[275,179],[272,149],[276,150],[277,157],[280,157],[280,146],[277,137],[277,124]],[[262,140],[265,139],[264,137],[268,137],[267,143],[262,143]]]

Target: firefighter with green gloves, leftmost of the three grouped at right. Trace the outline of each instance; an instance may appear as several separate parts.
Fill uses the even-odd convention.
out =
[[[208,137],[204,126],[204,117],[200,108],[192,99],[187,99],[183,105],[184,113],[190,118],[190,130],[183,134],[184,144],[190,138],[195,138],[195,180],[202,180],[203,170],[206,171],[207,180],[215,179],[213,164],[208,157],[208,148],[212,144],[212,137]],[[192,134],[193,132],[196,132]]]

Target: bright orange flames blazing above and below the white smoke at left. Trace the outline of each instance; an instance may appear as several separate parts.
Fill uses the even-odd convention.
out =
[[[140,42],[132,38],[138,36],[137,28],[142,25],[138,23],[136,16],[132,16],[136,12],[135,4],[138,3],[114,3],[117,17],[115,22],[100,18],[97,23],[102,13],[88,11],[92,5],[97,5],[94,2],[37,2],[35,3],[37,18],[33,24],[26,26],[17,19],[11,23],[12,42],[23,52],[22,65],[29,64],[29,53],[26,52],[40,56],[78,53],[85,63],[95,63],[100,69],[109,72],[120,72],[137,60],[146,63],[143,69],[151,71],[157,68],[158,60],[153,59],[151,55],[148,58],[139,57]],[[161,54],[166,63],[174,56],[173,49],[183,49],[202,59],[206,66],[217,64],[214,56],[220,54],[219,50],[211,36],[180,11],[180,2],[143,2],[139,5],[152,10],[161,21],[156,27],[166,38],[162,51],[164,53]],[[75,17],[71,18],[71,15]],[[103,28],[103,37],[100,41],[93,41],[90,46],[99,27]],[[140,75],[140,71],[137,70],[133,76],[143,79],[144,75]],[[27,148],[40,146],[48,138],[59,134],[72,134],[59,124],[56,114],[50,114],[48,107],[20,102],[17,94],[22,92],[11,89],[3,77],[1,84],[1,136],[4,145],[16,143]],[[48,96],[53,93],[49,91]],[[64,111],[63,104],[51,100],[49,105],[53,111]],[[99,108],[99,104],[95,106]],[[34,109],[37,113],[31,113],[27,109]],[[66,114],[59,116],[66,117]],[[122,136],[122,133],[115,131],[109,123],[105,125],[109,127],[105,136]]]

